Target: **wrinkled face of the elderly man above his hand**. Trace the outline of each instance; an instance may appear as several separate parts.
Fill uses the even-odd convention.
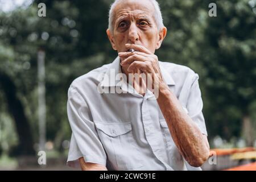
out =
[[[148,0],[127,0],[114,8],[113,32],[108,32],[113,49],[127,52],[125,44],[138,44],[152,53],[160,47],[162,38],[154,20],[154,6]]]

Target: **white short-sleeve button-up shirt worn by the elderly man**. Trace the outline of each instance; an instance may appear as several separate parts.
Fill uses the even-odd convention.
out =
[[[68,90],[72,129],[68,162],[78,159],[109,170],[187,170],[193,168],[177,149],[155,97],[142,96],[111,74],[121,71],[120,59],[76,78]],[[207,135],[199,76],[183,65],[159,61],[164,81],[201,133]],[[114,70],[114,72],[113,72]],[[110,78],[106,81],[105,77]],[[121,82],[121,84],[120,84]],[[100,92],[99,87],[110,92]],[[122,92],[111,92],[119,87]]]

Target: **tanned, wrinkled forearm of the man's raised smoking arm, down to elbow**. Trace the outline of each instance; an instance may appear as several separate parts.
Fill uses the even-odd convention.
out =
[[[201,166],[209,156],[209,144],[205,136],[166,84],[160,84],[157,101],[181,154],[191,166]]]

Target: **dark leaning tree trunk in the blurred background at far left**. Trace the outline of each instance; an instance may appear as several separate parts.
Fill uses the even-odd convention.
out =
[[[19,146],[14,152],[15,155],[34,155],[32,134],[28,119],[24,113],[22,102],[16,96],[16,86],[11,78],[0,72],[0,85],[5,93],[10,114],[14,118],[16,131],[19,138]]]

